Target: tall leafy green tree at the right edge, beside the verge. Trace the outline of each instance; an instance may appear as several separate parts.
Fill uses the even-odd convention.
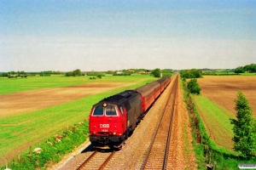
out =
[[[235,103],[237,119],[230,119],[231,124],[234,124],[234,150],[242,156],[250,156],[256,153],[256,123],[253,111],[241,91],[237,92]]]

